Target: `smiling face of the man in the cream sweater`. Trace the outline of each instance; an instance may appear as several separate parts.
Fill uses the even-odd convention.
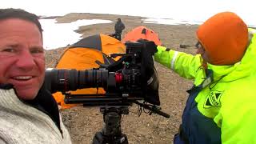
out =
[[[18,18],[0,20],[0,83],[11,83],[22,99],[38,94],[45,76],[42,35]]]

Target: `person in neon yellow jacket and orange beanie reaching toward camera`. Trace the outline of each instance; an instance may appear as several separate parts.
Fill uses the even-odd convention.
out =
[[[256,143],[256,34],[232,12],[197,30],[198,54],[158,46],[154,60],[194,79],[177,143]]]

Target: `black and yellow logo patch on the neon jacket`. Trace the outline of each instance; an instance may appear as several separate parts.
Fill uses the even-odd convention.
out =
[[[222,96],[222,91],[211,91],[210,94],[207,96],[206,102],[203,107],[211,108],[211,107],[222,106],[221,96]]]

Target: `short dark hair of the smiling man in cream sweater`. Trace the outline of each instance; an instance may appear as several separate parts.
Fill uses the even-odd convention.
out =
[[[36,14],[29,13],[22,9],[0,9],[0,20],[8,18],[19,18],[25,21],[33,22],[36,26],[38,26],[38,30],[42,35],[42,26],[39,22],[39,17]]]

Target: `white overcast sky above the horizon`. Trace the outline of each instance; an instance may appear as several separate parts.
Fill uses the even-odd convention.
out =
[[[230,10],[255,26],[256,10],[253,4],[253,0],[6,0],[1,2],[0,7],[22,8],[46,16],[81,12],[195,21],[204,21],[213,14]]]

